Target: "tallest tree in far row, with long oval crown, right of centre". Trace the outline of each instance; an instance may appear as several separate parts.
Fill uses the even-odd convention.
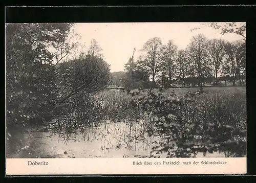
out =
[[[198,77],[198,86],[202,86],[203,77],[210,75],[207,48],[208,41],[202,34],[194,36],[188,46],[189,58],[193,63],[193,70]]]

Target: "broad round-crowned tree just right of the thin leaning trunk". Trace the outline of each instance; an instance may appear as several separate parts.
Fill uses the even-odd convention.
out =
[[[159,37],[149,39],[141,50],[145,52],[144,59],[140,61],[152,76],[152,81],[155,83],[155,77],[159,72],[159,67],[162,61],[163,45]]]

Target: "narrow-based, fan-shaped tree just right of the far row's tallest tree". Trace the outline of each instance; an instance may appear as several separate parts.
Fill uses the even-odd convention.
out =
[[[221,70],[221,65],[226,54],[226,42],[223,39],[211,39],[208,45],[208,58],[212,67],[212,72],[217,84],[218,73]]]

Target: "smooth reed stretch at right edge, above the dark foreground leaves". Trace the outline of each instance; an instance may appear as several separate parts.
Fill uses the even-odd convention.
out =
[[[220,124],[246,129],[245,90],[208,91],[200,97],[195,106],[198,110],[195,121],[219,121]]]

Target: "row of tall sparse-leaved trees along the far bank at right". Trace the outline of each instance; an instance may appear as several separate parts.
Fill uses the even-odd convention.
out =
[[[245,26],[236,23],[208,26],[221,29],[221,33],[234,33],[241,40],[207,39],[203,34],[191,38],[187,48],[178,50],[172,40],[163,44],[159,37],[149,39],[134,61],[125,64],[126,86],[151,83],[162,87],[187,87],[203,85],[243,85],[246,76]],[[234,28],[232,28],[234,27]]]

